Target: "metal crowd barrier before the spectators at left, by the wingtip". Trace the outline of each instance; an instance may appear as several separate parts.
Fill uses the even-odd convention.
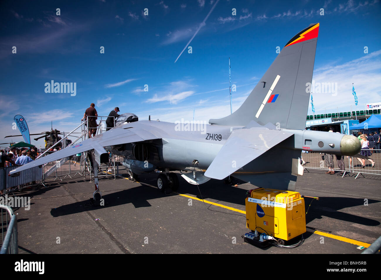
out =
[[[0,168],[0,190],[9,189],[10,187],[22,186],[31,182],[32,184],[29,184],[29,186],[42,183],[43,168],[35,166],[33,168],[21,171],[20,175],[17,177],[8,176],[8,173],[17,167],[18,166],[9,166]]]

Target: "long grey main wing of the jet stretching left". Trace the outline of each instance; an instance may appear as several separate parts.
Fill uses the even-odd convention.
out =
[[[66,147],[65,149],[58,150],[53,154],[47,155],[42,158],[38,158],[33,162],[29,162],[25,165],[22,165],[10,172],[14,174],[22,170],[26,170],[35,166],[43,165],[48,162],[54,162],[61,158],[69,157],[71,155],[79,154],[86,152],[88,150],[93,150],[94,152],[102,155],[106,153],[106,150],[103,147],[131,143],[131,142],[140,142],[145,140],[160,139],[160,137],[155,136],[154,134],[148,132],[147,130],[141,128],[113,128],[109,131],[106,131],[102,134],[94,136],[90,139],[86,139],[74,146]],[[108,154],[107,154],[108,157]]]

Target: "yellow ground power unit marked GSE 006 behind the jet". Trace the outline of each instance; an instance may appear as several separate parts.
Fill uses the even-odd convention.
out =
[[[306,232],[304,198],[298,192],[258,188],[249,191],[245,204],[252,231],[286,241]]]

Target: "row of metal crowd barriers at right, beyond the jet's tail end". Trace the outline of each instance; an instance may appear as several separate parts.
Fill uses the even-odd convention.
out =
[[[336,157],[333,155],[333,170],[335,172],[343,172],[343,176],[347,173],[357,173],[357,176],[360,174],[371,174],[371,175],[381,175],[381,150],[371,150],[372,155],[370,155],[368,159],[359,158],[356,156],[353,157]],[[323,153],[317,152],[302,152],[302,159],[305,164],[303,167],[306,171],[309,169],[317,169],[317,170],[326,170],[328,171],[327,163],[323,158]],[[342,160],[340,160],[340,158]],[[373,164],[374,163],[374,164]],[[344,165],[343,167],[339,167]]]

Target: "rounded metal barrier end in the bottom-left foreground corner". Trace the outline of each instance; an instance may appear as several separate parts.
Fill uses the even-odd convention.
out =
[[[16,215],[9,206],[0,204],[0,208],[2,217],[2,246],[0,254],[17,254],[19,246]]]

